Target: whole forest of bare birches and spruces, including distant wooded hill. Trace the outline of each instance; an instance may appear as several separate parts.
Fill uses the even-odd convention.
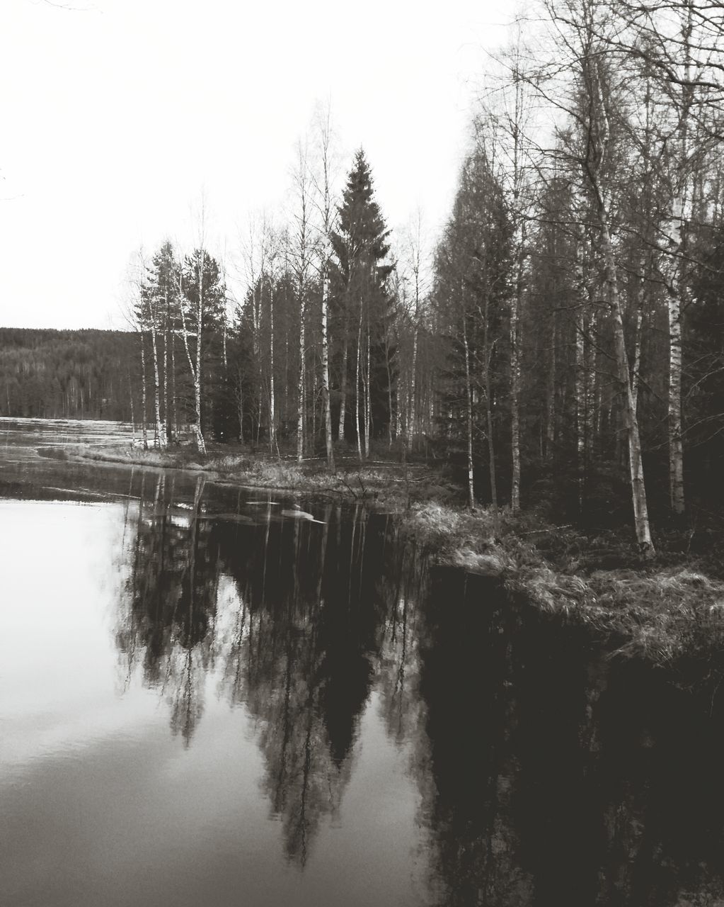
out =
[[[421,214],[393,235],[362,149],[337,191],[327,112],[290,210],[250,221],[243,292],[199,218],[194,249],[140,251],[121,343],[3,332],[8,414],[130,418],[145,446],[183,427],[201,453],[331,469],[424,457],[471,508],[631,522],[642,554],[650,513],[714,511],[722,7],[556,0],[535,19],[489,59],[434,243]]]

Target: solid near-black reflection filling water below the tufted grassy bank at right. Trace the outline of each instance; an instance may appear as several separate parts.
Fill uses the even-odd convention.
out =
[[[724,903],[709,703],[465,581],[433,584],[420,651],[434,902]]]

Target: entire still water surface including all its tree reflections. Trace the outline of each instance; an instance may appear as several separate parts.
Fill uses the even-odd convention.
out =
[[[385,515],[25,429],[0,424],[0,902],[724,904],[710,696],[429,571]]]

